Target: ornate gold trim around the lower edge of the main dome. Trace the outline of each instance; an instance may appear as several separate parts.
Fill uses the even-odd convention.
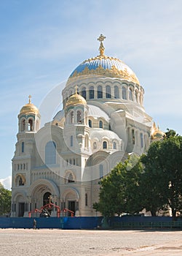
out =
[[[104,69],[101,65],[99,65],[96,69],[89,69],[88,67],[85,67],[82,72],[75,71],[70,78],[76,78],[80,75],[104,75],[110,78],[123,78],[139,84],[139,80],[134,73],[130,74],[127,71],[127,68],[124,68],[124,70],[119,70],[114,65],[111,67],[111,69]]]

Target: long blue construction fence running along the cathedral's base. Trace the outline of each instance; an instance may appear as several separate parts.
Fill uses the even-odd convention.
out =
[[[0,217],[0,228],[58,228],[65,230],[96,229],[96,228],[178,228],[182,229],[182,219],[173,217]]]

